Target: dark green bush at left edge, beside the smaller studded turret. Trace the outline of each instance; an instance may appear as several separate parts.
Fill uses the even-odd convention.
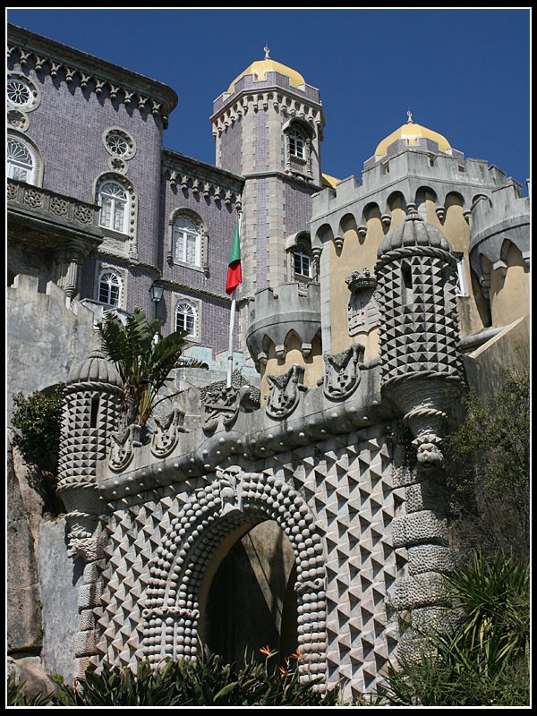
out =
[[[64,387],[59,383],[47,393],[35,390],[30,396],[13,396],[16,443],[28,460],[49,473],[57,473]]]

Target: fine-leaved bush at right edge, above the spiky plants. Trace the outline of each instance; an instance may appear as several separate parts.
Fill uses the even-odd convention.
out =
[[[448,440],[447,488],[462,550],[528,558],[530,534],[530,378],[504,371],[484,404],[475,391],[465,421]]]

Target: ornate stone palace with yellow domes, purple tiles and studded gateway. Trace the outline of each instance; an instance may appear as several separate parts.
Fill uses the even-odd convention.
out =
[[[352,697],[412,648],[401,611],[448,609],[442,439],[527,362],[529,199],[410,113],[361,177],[325,174],[320,90],[268,50],[214,100],[214,166],[163,146],[176,104],[8,25],[8,393],[66,383],[64,514],[18,517],[9,651],[69,680],[270,644]],[[145,440],[96,329],[137,306],[209,364]]]

